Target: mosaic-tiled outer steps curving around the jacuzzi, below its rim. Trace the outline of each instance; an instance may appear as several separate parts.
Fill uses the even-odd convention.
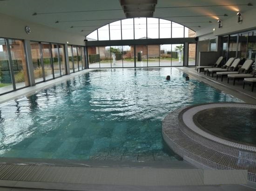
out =
[[[197,105],[198,106],[198,105]],[[255,158],[255,153],[250,156],[243,154],[244,150],[239,151],[232,147],[226,146],[229,151],[236,150],[240,155],[234,152],[231,154],[221,152],[225,145],[216,143],[213,146],[212,140],[207,140],[199,134],[196,134],[188,127],[181,123],[181,115],[184,110],[190,107],[181,108],[167,115],[162,122],[162,135],[165,142],[171,149],[179,154],[181,157],[188,157],[202,166],[207,166],[211,169],[245,169],[248,170],[248,180],[256,182],[256,161],[251,160]],[[182,129],[183,127],[183,129]],[[186,129],[187,128],[187,129]],[[188,130],[188,134],[184,134],[184,129]],[[182,131],[183,130],[183,131]],[[190,137],[193,136],[194,140]],[[207,143],[204,145],[204,143]],[[213,148],[211,148],[213,147]],[[216,149],[216,150],[215,150]]]

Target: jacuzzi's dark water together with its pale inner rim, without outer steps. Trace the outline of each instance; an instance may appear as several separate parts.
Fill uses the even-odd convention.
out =
[[[218,143],[256,152],[256,105],[211,103],[187,109],[184,124]]]

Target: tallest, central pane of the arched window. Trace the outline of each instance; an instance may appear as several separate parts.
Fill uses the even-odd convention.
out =
[[[147,38],[146,18],[135,18],[134,19],[134,30],[135,30],[135,39]]]

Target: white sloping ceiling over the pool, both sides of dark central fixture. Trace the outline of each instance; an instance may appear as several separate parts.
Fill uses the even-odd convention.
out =
[[[140,3],[140,1],[141,0],[136,0],[138,4]],[[241,5],[248,3],[253,4],[253,6]],[[197,7],[177,8],[176,6]],[[225,20],[229,17],[235,16],[238,10],[243,14],[244,12],[253,8],[256,8],[256,0],[158,0],[158,3],[155,7],[154,17],[172,20],[174,22],[181,23],[182,25],[189,27],[194,31],[197,31],[210,25],[216,25],[218,18],[221,20]],[[0,13],[17,17],[23,20],[32,21],[41,25],[54,27],[62,31],[74,32],[85,36],[102,25],[106,25],[116,20],[126,19],[119,0],[0,0]],[[33,13],[37,13],[37,15],[33,16]],[[224,14],[227,14],[228,17],[208,16]],[[59,23],[55,23],[56,21],[59,21]],[[209,21],[212,21],[213,23],[209,23]],[[201,26],[201,28],[197,27],[199,25]],[[83,27],[71,28],[71,26]],[[81,32],[81,30],[84,31]]]

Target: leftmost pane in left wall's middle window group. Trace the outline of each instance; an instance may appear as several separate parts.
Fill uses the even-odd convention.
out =
[[[41,62],[41,52],[40,52],[40,44],[37,42],[31,42],[31,54],[32,54],[32,62],[34,67],[34,78],[35,83],[43,82],[43,66]]]

